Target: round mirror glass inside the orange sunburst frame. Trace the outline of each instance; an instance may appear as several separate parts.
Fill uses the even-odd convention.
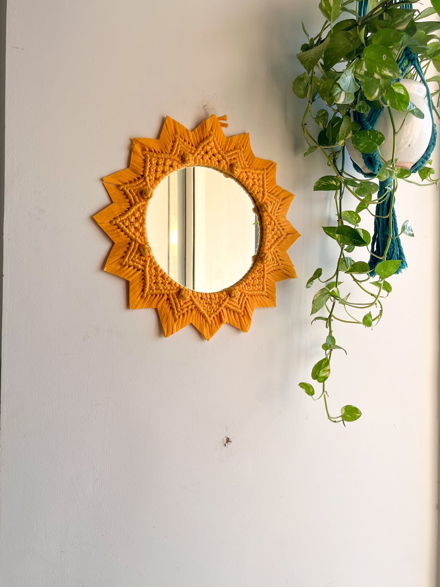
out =
[[[259,224],[239,183],[213,168],[186,167],[154,190],[147,236],[174,281],[208,293],[235,284],[251,268]]]

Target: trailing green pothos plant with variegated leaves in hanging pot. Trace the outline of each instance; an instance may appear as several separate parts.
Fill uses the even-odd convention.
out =
[[[305,72],[293,82],[293,92],[306,100],[302,130],[309,148],[304,157],[320,151],[331,170],[317,179],[314,190],[333,193],[336,224],[323,230],[340,250],[333,273],[325,276],[322,269],[316,269],[306,284],[306,288],[320,284],[312,301],[312,315],[317,315],[313,322],[323,321],[328,332],[322,345],[324,356],[312,369],[316,383],[299,386],[313,399],[323,400],[328,419],[335,423],[361,416],[355,406],[344,406],[337,416],[329,411],[326,381],[331,358],[334,352],[346,352],[336,343],[335,323],[367,328],[378,325],[383,299],[391,294],[387,279],[406,267],[400,236],[414,236],[408,221],[400,230],[397,227],[394,201],[398,184],[434,185],[440,181],[432,178],[429,160],[436,137],[432,112],[438,116],[431,97],[440,97],[440,76],[428,79],[439,88],[431,95],[425,80],[431,64],[440,72],[440,38],[436,34],[440,22],[426,20],[440,14],[440,0],[432,5],[419,11],[393,0],[321,0],[319,8],[325,19],[319,33],[310,36],[303,25],[307,42],[297,58]],[[410,99],[407,88],[412,82],[407,80],[424,83],[424,107]],[[408,164],[399,160],[398,146],[402,129],[408,131],[407,125],[415,122],[411,117],[428,120],[429,131],[426,149],[423,147],[418,160]],[[378,120],[382,129],[388,124],[389,136],[375,128]],[[404,143],[408,145],[408,141]],[[354,168],[365,178],[347,170],[346,144],[357,160]],[[418,181],[409,179],[415,172]],[[351,205],[354,210],[344,207],[347,195],[351,202],[356,198]],[[374,217],[373,239],[361,227],[370,215]],[[365,250],[370,255],[368,262],[358,258]],[[352,284],[350,291],[348,282]]]

